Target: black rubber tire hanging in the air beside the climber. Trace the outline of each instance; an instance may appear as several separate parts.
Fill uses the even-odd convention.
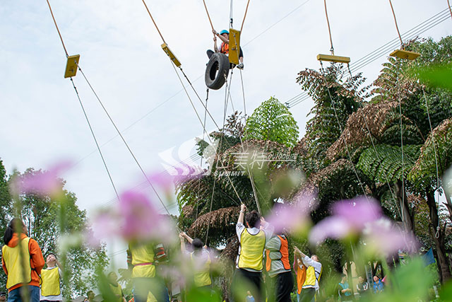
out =
[[[229,58],[226,54],[215,52],[206,67],[204,80],[210,89],[218,90],[225,84],[229,74]]]

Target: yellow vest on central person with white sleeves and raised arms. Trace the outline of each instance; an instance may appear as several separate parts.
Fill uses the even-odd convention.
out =
[[[256,235],[251,235],[245,229],[240,236],[239,268],[263,269],[263,249],[266,246],[266,233],[260,230]]]

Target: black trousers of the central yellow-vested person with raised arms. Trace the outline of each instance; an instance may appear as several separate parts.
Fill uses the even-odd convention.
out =
[[[254,296],[254,301],[266,301],[265,289],[261,272],[249,272],[246,269],[236,269],[232,276],[231,298],[234,302],[245,301],[246,291]]]

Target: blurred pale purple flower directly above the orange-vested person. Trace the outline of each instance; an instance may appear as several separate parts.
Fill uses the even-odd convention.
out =
[[[275,204],[266,221],[275,228],[276,233],[284,230],[292,233],[304,231],[311,222],[309,214],[315,207],[314,196],[299,194],[292,204]]]

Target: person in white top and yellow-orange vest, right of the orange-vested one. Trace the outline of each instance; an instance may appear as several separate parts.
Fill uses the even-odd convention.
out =
[[[322,274],[322,265],[319,262],[317,255],[312,255],[310,258],[299,250],[294,248],[295,257],[302,262],[302,265],[307,267],[306,279],[299,296],[300,302],[314,302],[316,294],[319,294],[319,279]]]

